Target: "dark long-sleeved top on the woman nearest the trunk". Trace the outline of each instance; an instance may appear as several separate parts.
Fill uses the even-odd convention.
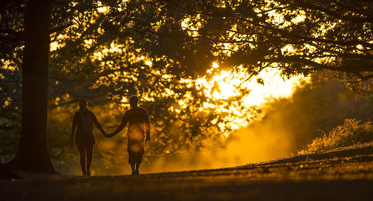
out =
[[[71,129],[71,139],[75,143],[93,143],[95,144],[95,138],[93,136],[93,123],[96,125],[101,133],[105,133],[101,124],[98,122],[96,116],[88,109],[80,109],[74,114],[73,127]],[[76,131],[76,132],[75,132]]]

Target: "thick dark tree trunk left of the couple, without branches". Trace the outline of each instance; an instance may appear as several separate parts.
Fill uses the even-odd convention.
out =
[[[47,77],[51,1],[29,0],[22,62],[22,127],[12,169],[56,173],[47,147]]]

